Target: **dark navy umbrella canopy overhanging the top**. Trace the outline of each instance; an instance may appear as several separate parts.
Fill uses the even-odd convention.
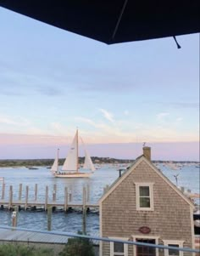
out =
[[[200,31],[199,0],[0,0],[0,6],[108,44]]]

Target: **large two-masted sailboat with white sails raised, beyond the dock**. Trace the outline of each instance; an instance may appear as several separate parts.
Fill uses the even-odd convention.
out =
[[[85,154],[86,156],[83,168],[90,169],[90,172],[81,172],[79,170],[79,136],[78,130],[76,130],[75,138],[73,139],[72,144],[70,146],[69,154],[64,161],[62,171],[58,170],[57,154],[57,157],[53,162],[53,167],[51,169],[53,172],[53,176],[57,178],[89,178],[93,174],[95,168],[92,163],[91,156],[89,155],[88,151],[86,151],[86,148]]]

